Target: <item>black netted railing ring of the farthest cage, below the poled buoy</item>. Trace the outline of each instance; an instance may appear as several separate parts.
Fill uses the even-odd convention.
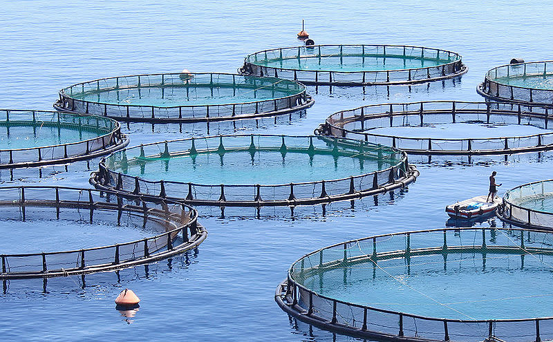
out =
[[[268,61],[286,61],[289,59],[321,59],[339,58],[341,66],[344,58],[358,59],[356,64],[364,65],[366,59],[415,59],[440,62],[435,66],[420,66],[420,68],[398,68],[390,70],[309,70],[301,68],[285,68],[283,66],[264,66]],[[442,61],[442,58],[444,60]],[[424,48],[420,46],[393,45],[319,45],[297,46],[291,48],[275,48],[263,50],[244,59],[244,65],[238,70],[245,75],[259,77],[281,77],[293,79],[307,85],[321,86],[379,86],[395,84],[418,84],[458,77],[467,73],[468,68],[462,64],[461,56],[447,50]]]

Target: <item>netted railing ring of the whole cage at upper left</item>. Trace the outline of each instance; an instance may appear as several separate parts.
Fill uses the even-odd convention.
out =
[[[244,88],[250,92],[270,91],[272,97],[260,98],[255,101],[235,103],[221,102],[219,104],[188,105],[187,99],[182,99],[178,106],[148,106],[145,104],[111,104],[87,101],[77,98],[89,92],[126,91],[149,88],[159,88],[161,95],[165,88],[186,88],[187,93],[194,93],[195,88],[214,89]],[[274,93],[289,93],[285,96],[274,96]],[[213,95],[212,95],[213,96]],[[249,77],[225,73],[165,73],[149,75],[129,75],[95,79],[69,86],[59,91],[59,100],[54,104],[58,111],[70,113],[90,113],[111,117],[122,122],[149,123],[193,123],[216,122],[223,120],[242,120],[256,117],[283,115],[294,111],[303,111],[315,103],[306,93],[302,84],[285,79],[270,77]]]

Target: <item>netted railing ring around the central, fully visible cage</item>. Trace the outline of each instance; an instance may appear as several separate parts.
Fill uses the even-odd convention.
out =
[[[225,141],[227,146],[225,146]],[[198,146],[198,142],[202,142],[205,146]],[[171,156],[198,155],[198,153],[216,153],[222,156],[229,151],[249,151],[250,153],[279,151],[283,153],[283,158],[288,152],[307,153],[310,158],[316,154],[372,159],[380,157],[383,163],[387,160],[385,155],[388,153],[395,162],[393,162],[393,166],[386,169],[362,175],[351,175],[348,178],[287,184],[196,184],[169,180],[146,180],[113,170],[114,167],[124,170],[131,163],[140,163],[151,158],[163,160],[163,158]],[[111,189],[131,196],[140,194],[152,199],[182,200],[187,205],[294,207],[324,204],[337,200],[355,200],[364,196],[377,195],[405,187],[418,175],[416,168],[409,165],[403,151],[387,146],[335,137],[218,135],[172,140],[125,149],[122,153],[115,153],[107,160],[100,162],[99,170],[92,173],[91,184],[97,189]]]

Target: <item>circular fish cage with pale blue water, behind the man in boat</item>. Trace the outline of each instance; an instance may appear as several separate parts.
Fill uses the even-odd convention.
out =
[[[490,102],[373,104],[330,115],[315,134],[419,155],[512,154],[553,149],[551,114],[544,106]]]

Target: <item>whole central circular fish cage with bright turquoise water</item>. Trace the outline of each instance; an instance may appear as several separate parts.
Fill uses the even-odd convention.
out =
[[[406,154],[388,146],[335,137],[218,135],[124,149],[100,162],[91,184],[189,205],[293,207],[384,193],[417,176]]]

